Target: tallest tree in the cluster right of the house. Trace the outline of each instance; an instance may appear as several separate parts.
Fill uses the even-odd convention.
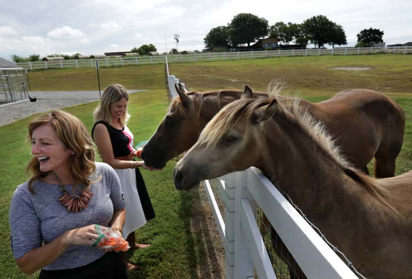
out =
[[[336,23],[329,20],[326,16],[317,15],[303,21],[302,30],[305,37],[312,44],[321,48],[331,41],[330,37],[335,25]]]

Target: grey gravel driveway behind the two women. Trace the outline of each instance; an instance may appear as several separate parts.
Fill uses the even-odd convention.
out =
[[[135,93],[142,90],[128,90]],[[103,91],[102,91],[103,93]],[[36,96],[37,102],[25,100],[0,106],[0,126],[30,116],[34,113],[48,112],[85,103],[99,101],[99,91],[30,91],[30,97]]]

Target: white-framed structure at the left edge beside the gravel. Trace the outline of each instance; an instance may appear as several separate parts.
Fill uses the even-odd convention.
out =
[[[0,57],[0,104],[28,99],[24,69]]]

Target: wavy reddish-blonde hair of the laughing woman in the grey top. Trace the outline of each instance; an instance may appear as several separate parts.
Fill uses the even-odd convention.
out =
[[[88,189],[92,183],[89,176],[96,169],[94,163],[95,151],[93,141],[83,122],[68,112],[60,110],[49,112],[30,122],[28,127],[29,142],[32,140],[34,130],[45,124],[51,124],[59,139],[67,148],[74,151],[70,163],[71,172],[74,175],[75,180],[73,192],[75,191],[75,187],[79,184],[84,185],[85,188]],[[45,177],[49,171],[43,172],[40,170],[40,162],[35,156],[30,159],[26,171],[27,173],[32,174],[32,177],[29,180],[29,190],[33,194],[34,190],[32,188],[32,183],[39,178]]]

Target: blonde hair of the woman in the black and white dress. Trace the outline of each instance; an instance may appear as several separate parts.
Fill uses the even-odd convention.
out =
[[[93,113],[94,120],[103,120],[110,124],[113,119],[112,114],[110,113],[110,104],[119,102],[120,100],[122,100],[122,98],[125,98],[129,101],[129,94],[127,93],[127,90],[123,85],[111,84],[106,87],[102,94],[102,100]],[[125,126],[129,118],[130,114],[126,110],[126,113],[123,113],[122,118],[120,118],[120,124],[122,124],[122,126]]]

